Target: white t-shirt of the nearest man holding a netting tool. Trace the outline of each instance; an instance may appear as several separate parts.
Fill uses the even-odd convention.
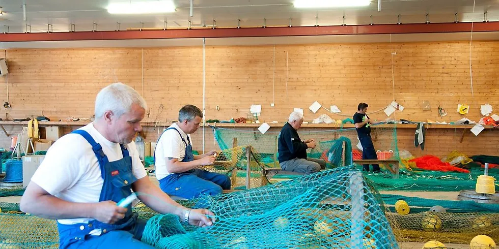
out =
[[[109,162],[123,158],[120,144],[102,136],[93,123],[80,128],[87,131],[95,142],[102,146]],[[147,176],[134,142],[126,145],[132,157],[132,171],[137,179]],[[45,159],[37,169],[33,182],[53,196],[70,202],[99,202],[104,180],[101,177],[99,162],[92,146],[79,134],[67,134],[58,139],[47,151]],[[61,224],[88,223],[90,219],[58,220]],[[100,234],[93,230],[91,234]]]

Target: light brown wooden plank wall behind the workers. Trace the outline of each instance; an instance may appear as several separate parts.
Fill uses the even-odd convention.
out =
[[[0,101],[9,99],[12,108],[1,110],[4,119],[6,115],[10,119],[41,114],[52,120],[90,117],[99,89],[116,81],[143,94],[149,106],[145,121],[164,124],[176,119],[182,105],[203,105],[202,47],[6,52],[8,91],[4,76]],[[284,121],[295,107],[305,109],[308,121],[326,113],[344,119],[351,117],[359,102],[376,111],[396,100],[405,110],[391,118],[455,121],[462,118],[456,112],[457,104],[465,103],[471,106],[466,117],[478,121],[481,104],[499,108],[497,58],[496,41],[474,41],[471,47],[469,41],[206,47],[206,117],[247,117],[250,105],[260,104],[260,121]],[[308,107],[314,101],[325,107],[337,105],[348,116],[324,109],[313,114]],[[430,102],[431,111],[421,109],[423,101]],[[438,117],[439,105],[449,115]],[[370,116],[386,118],[382,111]],[[7,129],[20,130],[15,126]],[[153,127],[146,132],[148,141],[156,139]],[[486,132],[476,138],[468,134],[463,143],[456,144],[460,130],[429,130],[427,149],[421,151],[412,145],[413,131],[399,130],[399,147],[418,155],[445,155],[454,149],[497,154],[499,138],[495,131]],[[206,149],[213,148],[209,128],[205,135]],[[195,149],[201,149],[202,142],[198,132]],[[10,141],[2,136],[0,146],[8,145]]]

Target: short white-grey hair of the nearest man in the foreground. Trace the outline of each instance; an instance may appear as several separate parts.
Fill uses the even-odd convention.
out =
[[[144,98],[132,87],[123,83],[113,83],[102,88],[95,100],[95,118],[100,118],[106,111],[112,111],[114,115],[120,117],[123,113],[129,112],[132,104],[147,109]]]

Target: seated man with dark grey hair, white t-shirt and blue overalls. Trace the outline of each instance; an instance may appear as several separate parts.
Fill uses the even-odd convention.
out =
[[[231,189],[227,175],[196,169],[215,162],[214,153],[192,154],[190,134],[195,133],[203,113],[193,105],[179,111],[179,121],[165,130],[158,139],[154,151],[154,165],[159,187],[164,193],[186,199],[201,195],[218,195]]]

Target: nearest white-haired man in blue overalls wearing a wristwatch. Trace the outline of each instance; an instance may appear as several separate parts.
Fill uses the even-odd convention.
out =
[[[117,202],[132,193],[159,213],[210,226],[214,215],[188,209],[153,184],[132,142],[142,130],[146,102],[131,87],[103,88],[95,103],[95,121],[54,143],[21,198],[24,212],[57,219],[60,248],[154,248],[141,242],[145,221],[131,204]]]

